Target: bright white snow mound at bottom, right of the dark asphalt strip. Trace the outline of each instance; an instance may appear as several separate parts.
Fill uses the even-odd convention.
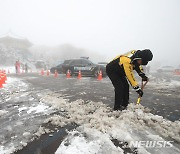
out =
[[[88,138],[88,140],[87,140]],[[107,134],[95,129],[79,127],[69,133],[55,154],[123,154],[121,148],[117,148]]]

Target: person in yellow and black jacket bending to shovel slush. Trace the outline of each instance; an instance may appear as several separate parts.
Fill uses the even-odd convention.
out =
[[[142,81],[148,81],[141,65],[147,65],[153,58],[149,49],[132,50],[124,55],[117,56],[106,66],[106,73],[115,88],[114,110],[124,110],[129,103],[129,84],[136,90],[139,97],[143,96],[142,89],[134,77],[133,70],[139,74]]]

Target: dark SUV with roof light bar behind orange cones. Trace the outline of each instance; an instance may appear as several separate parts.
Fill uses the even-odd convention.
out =
[[[65,74],[68,70],[71,75],[77,75],[78,72],[81,71],[82,75],[97,77],[98,72],[101,70],[102,75],[104,77],[106,76],[106,68],[104,66],[94,64],[90,60],[84,58],[66,60],[61,67],[62,72]]]

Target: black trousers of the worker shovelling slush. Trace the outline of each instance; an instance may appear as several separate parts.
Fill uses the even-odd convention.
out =
[[[106,66],[106,73],[115,88],[115,110],[121,106],[126,107],[129,103],[129,84],[121,69],[118,63]]]

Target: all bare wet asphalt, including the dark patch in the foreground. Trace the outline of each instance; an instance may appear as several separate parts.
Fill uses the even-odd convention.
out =
[[[23,82],[26,82],[29,85],[28,91],[30,91],[31,95],[35,93],[33,97],[36,98],[37,103],[38,97],[36,97],[36,95],[38,92],[41,94],[47,90],[62,94],[63,98],[68,99],[69,102],[82,99],[86,102],[103,102],[112,108],[114,105],[114,88],[108,78],[103,78],[103,80],[98,81],[93,77],[83,77],[81,80],[78,80],[77,77],[67,79],[63,74],[54,78],[53,75],[47,77],[37,73],[21,75],[9,74],[8,76],[20,78]],[[156,82],[158,83],[164,80],[168,80],[168,82],[171,82],[171,80],[180,82],[180,77],[156,77],[156,74],[153,74],[152,82],[155,84],[148,84],[146,86],[141,104],[148,107],[154,114],[163,116],[171,121],[179,120],[180,87],[167,88],[164,86],[156,86]],[[135,103],[136,100],[137,94],[130,87],[130,102]],[[16,104],[18,104],[18,102]],[[37,123],[39,122],[37,121]],[[52,127],[51,129],[53,129],[53,126],[45,127]],[[14,154],[52,154],[66,137],[67,132],[65,129],[72,130],[76,127],[77,125],[70,125],[59,128],[59,133],[54,132],[53,137],[49,137],[49,134],[44,134]],[[127,149],[125,152],[128,152]]]

